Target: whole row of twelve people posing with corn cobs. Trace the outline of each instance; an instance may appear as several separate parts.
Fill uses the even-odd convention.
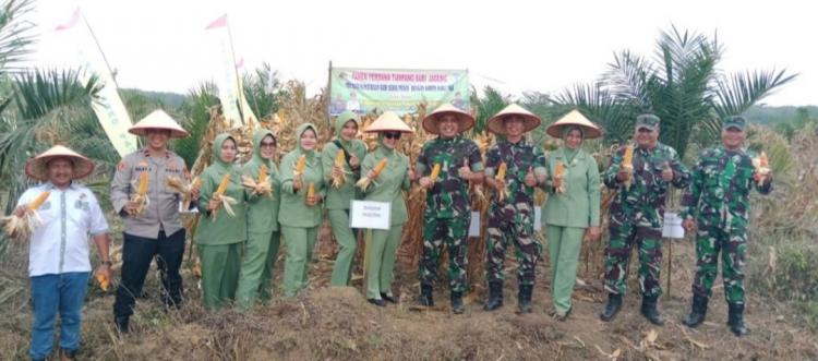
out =
[[[488,121],[498,135],[485,158],[464,132],[474,118],[444,104],[422,120],[423,129],[437,135],[424,144],[417,163],[399,149],[402,134],[413,130],[392,112],[384,112],[363,132],[377,136],[368,151],[358,139],[360,119],[344,112],[335,120],[335,137],[318,148],[311,123],[296,131],[297,147],[280,166],[275,163],[277,137],[267,130],[253,136],[252,158],[237,164],[237,140],[216,136],[213,159],[201,175],[201,188],[185,194],[168,185],[169,179],[190,182],[184,161],[168,141],[188,133],[170,117],[156,111],[130,129],[145,136],[145,146],[124,157],[111,182],[111,203],[124,224],[122,269],[113,320],[128,333],[135,299],[156,260],[163,299],[168,306],[184,300],[179,268],[185,249],[180,213],[197,210],[195,242],[202,268],[203,303],[210,310],[234,304],[248,310],[270,299],[272,274],[282,238],[286,243],[284,297],[293,297],[309,282],[309,268],[324,210],[339,251],[330,284],[347,286],[351,279],[357,230],[350,228],[353,200],[390,204],[390,228],[374,229],[365,237],[365,299],[377,306],[399,302],[393,292],[395,256],[408,220],[406,194],[412,182],[425,191],[422,254],[419,262],[422,305],[434,305],[438,257],[448,254],[452,310],[465,312],[467,239],[471,219],[470,185],[485,183],[492,190],[486,227],[485,279],[489,293],[483,309],[503,306],[504,260],[509,243],[518,260],[519,313],[532,312],[536,266],[542,245],[534,237],[534,191],[548,193],[542,225],[551,267],[551,315],[565,321],[572,312],[577,261],[584,238],[600,238],[600,182],[616,192],[610,209],[610,241],[605,249],[604,288],[609,301],[600,314],[611,321],[622,308],[630,253],[638,249],[641,313],[651,323],[663,320],[657,301],[661,294],[661,231],[671,185],[686,189],[684,227],[696,231],[697,273],[693,306],[684,323],[703,322],[708,300],[722,257],[722,277],[729,303],[729,325],[746,334],[743,322],[743,265],[746,257],[748,194],[756,188],[771,190],[772,176],[759,172],[743,148],[746,121],[723,121],[722,144],[701,153],[693,172],[677,153],[658,142],[660,119],[637,117],[633,143],[619,147],[600,175],[596,158],[582,148],[601,130],[579,112],[551,124],[546,132],[562,140],[549,154],[531,143],[527,133],[541,120],[517,105],[509,105]],[[80,342],[83,298],[91,275],[88,234],[97,244],[100,264],[95,275],[111,279],[108,225],[94,194],[75,180],[94,169],[87,158],[63,146],[34,157],[26,175],[43,181],[19,200],[22,216],[37,195],[50,192],[39,215],[43,226],[31,236],[29,276],[34,300],[31,357],[51,352],[57,314],[61,317],[60,348],[72,358]],[[146,184],[144,184],[146,182]],[[140,198],[140,196],[142,198]],[[145,201],[145,198],[147,201]],[[696,222],[698,220],[698,225]]]

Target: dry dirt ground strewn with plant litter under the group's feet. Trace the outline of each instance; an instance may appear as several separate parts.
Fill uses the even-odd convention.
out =
[[[326,238],[324,238],[326,243]],[[660,309],[662,327],[639,314],[636,281],[630,279],[623,311],[611,323],[598,314],[605,299],[593,267],[574,293],[567,322],[552,320],[548,261],[538,267],[534,312],[516,314],[517,286],[508,258],[505,305],[484,312],[484,287],[466,297],[466,313],[454,315],[448,291],[435,289],[434,310],[417,311],[417,270],[398,267],[395,292],[400,303],[377,308],[360,293],[360,276],[352,287],[328,287],[332,244],[322,244],[311,270],[310,289],[291,300],[276,299],[249,313],[232,310],[207,313],[200,303],[197,280],[185,268],[185,297],[180,310],[167,311],[158,301],[157,277],[148,276],[145,296],[132,318],[133,332],[119,338],[112,328],[112,293],[89,291],[83,323],[81,360],[816,360],[818,337],[782,303],[748,294],[746,322],[750,335],[736,338],[726,322],[721,287],[710,302],[707,322],[697,329],[681,324],[689,310],[693,248],[674,243],[670,298]],[[26,359],[31,328],[25,250],[4,261],[4,292],[19,289],[0,310],[1,359]],[[666,251],[665,251],[666,255]],[[276,285],[280,286],[282,253]],[[360,270],[358,272],[360,275]],[[666,262],[663,274],[666,274]],[[444,273],[445,275],[445,273]],[[9,281],[14,280],[14,281]],[[666,286],[665,282],[663,285]],[[277,292],[280,296],[280,289]]]

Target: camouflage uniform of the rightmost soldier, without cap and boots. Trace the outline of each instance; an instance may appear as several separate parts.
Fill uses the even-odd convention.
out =
[[[754,184],[762,194],[772,190],[771,182],[758,185],[755,175],[753,159],[744,151],[731,152],[720,145],[699,155],[681,214],[684,219],[698,218],[694,294],[710,298],[721,252],[727,302],[744,303],[742,268],[747,253],[749,192]]]

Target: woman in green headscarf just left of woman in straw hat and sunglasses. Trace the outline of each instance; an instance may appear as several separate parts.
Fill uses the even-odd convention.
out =
[[[356,198],[354,183],[361,170],[361,159],[366,154],[366,145],[357,140],[358,127],[361,120],[351,111],[345,111],[335,119],[335,139],[324,145],[321,154],[321,163],[324,171],[324,180],[344,180],[342,183],[327,186],[324,207],[327,209],[327,218],[333,226],[333,236],[338,241],[338,256],[335,258],[333,276],[329,284],[333,286],[347,286],[352,275],[352,261],[356,255],[358,240],[354,232],[349,228],[349,204]],[[337,166],[335,159],[338,152],[344,153],[344,165]]]

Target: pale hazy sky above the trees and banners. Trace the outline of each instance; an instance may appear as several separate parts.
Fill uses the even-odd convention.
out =
[[[188,93],[214,77],[204,27],[228,15],[238,59],[263,62],[316,93],[327,69],[468,69],[478,89],[558,93],[599,77],[613,53],[653,56],[675,25],[717,35],[725,72],[785,69],[798,77],[763,100],[818,104],[818,35],[808,1],[239,1],[40,0],[32,63],[79,65],[53,28],[80,7],[124,88]]]

